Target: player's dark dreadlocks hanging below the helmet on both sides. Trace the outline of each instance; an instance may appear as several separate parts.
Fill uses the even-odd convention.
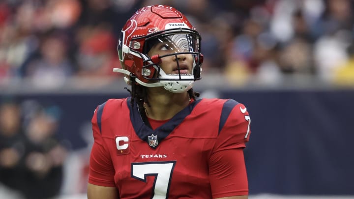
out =
[[[143,85],[136,84],[135,82],[133,82],[131,90],[129,90],[127,87],[124,87],[124,89],[126,89],[131,95],[131,100],[130,100],[131,106],[132,107],[134,106],[134,101],[136,100],[139,112],[145,113],[144,103],[146,103],[148,106],[150,106],[150,104],[148,102],[147,87],[145,87]],[[189,98],[193,99],[193,100],[196,100],[196,98],[200,96],[200,93],[194,92],[193,88],[189,89],[187,92],[188,92]]]

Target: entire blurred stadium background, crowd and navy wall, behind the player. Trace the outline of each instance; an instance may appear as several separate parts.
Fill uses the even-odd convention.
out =
[[[353,0],[1,0],[1,199],[86,198],[118,34],[152,4],[201,33],[195,90],[247,106],[250,198],[354,198]]]

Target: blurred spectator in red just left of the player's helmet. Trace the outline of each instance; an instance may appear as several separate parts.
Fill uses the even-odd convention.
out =
[[[104,26],[104,25],[102,25]],[[75,58],[80,78],[78,87],[100,87],[107,85],[120,76],[112,71],[119,67],[116,38],[106,28],[82,27],[78,34],[78,47]]]

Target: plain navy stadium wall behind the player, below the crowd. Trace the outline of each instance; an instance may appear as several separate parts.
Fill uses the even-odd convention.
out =
[[[60,109],[59,139],[88,148],[95,108],[121,93],[15,93]],[[205,90],[203,97],[246,105],[251,137],[245,148],[250,194],[354,196],[354,90]],[[0,94],[1,98],[8,97]]]

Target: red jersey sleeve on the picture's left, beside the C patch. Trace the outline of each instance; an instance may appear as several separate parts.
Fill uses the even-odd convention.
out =
[[[112,159],[102,138],[99,127],[100,121],[97,122],[97,115],[99,118],[102,114],[97,113],[99,112],[98,110],[100,110],[100,106],[95,110],[91,120],[94,142],[89,160],[89,183],[99,186],[115,187],[115,171]],[[103,107],[101,107],[101,111],[103,111]]]

